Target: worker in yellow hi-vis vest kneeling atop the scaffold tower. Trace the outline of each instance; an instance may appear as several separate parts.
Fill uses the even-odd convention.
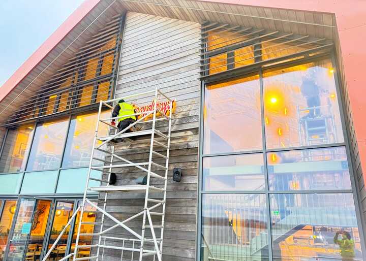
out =
[[[129,125],[131,125],[132,123],[134,123],[136,121],[136,115],[132,115],[132,114],[136,114],[136,111],[134,109],[134,107],[129,104],[126,103],[125,100],[119,100],[118,104],[114,107],[113,112],[112,112],[112,118],[114,117],[121,117],[118,118],[118,132],[122,131],[123,129],[125,129],[126,127],[128,127]],[[124,115],[126,115],[126,117],[123,117]],[[111,121],[111,124],[113,126],[115,126],[115,120],[113,119]],[[125,133],[130,133],[133,132],[135,130],[134,127],[131,127],[129,129],[127,129],[127,131]]]

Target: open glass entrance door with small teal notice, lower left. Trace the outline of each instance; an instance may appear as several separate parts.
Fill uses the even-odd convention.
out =
[[[19,198],[5,260],[40,260],[51,206],[51,199]]]

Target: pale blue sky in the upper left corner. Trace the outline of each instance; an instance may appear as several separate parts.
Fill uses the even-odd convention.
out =
[[[0,86],[82,2],[0,0]]]

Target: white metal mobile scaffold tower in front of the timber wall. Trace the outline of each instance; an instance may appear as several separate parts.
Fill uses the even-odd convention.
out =
[[[154,102],[152,108],[149,111],[143,111],[131,115],[124,115],[119,117],[110,117],[106,119],[101,119],[102,109],[104,107],[107,107],[108,109],[113,111],[113,104],[118,102],[121,99],[124,99],[128,101],[129,99],[138,99],[138,96],[144,96],[154,94]],[[158,101],[161,100],[168,100],[169,101],[169,110],[166,112],[163,112],[158,104]],[[131,258],[129,259],[133,260],[133,254],[134,252],[139,253],[139,261],[143,260],[143,257],[145,256],[154,256],[154,260],[157,257],[159,261],[162,259],[162,249],[163,249],[163,232],[164,232],[164,217],[165,217],[165,202],[166,202],[166,188],[167,188],[167,178],[168,178],[168,164],[169,164],[169,147],[170,147],[170,134],[171,134],[171,121],[172,121],[172,106],[173,101],[169,99],[167,95],[165,95],[162,91],[160,91],[158,88],[155,88],[151,91],[146,91],[143,93],[137,93],[132,94],[126,97],[119,97],[118,99],[113,99],[109,101],[101,101],[99,105],[99,112],[98,112],[98,122],[96,126],[95,131],[95,137],[94,137],[94,145],[92,150],[92,155],[90,156],[89,161],[89,170],[87,174],[87,180],[86,180],[86,186],[84,190],[84,197],[82,200],[82,204],[80,207],[74,212],[73,216],[70,218],[69,222],[65,225],[64,230],[59,234],[56,241],[53,243],[43,260],[46,260],[48,256],[51,254],[53,249],[55,248],[57,242],[62,237],[62,235],[67,230],[67,227],[71,224],[71,221],[77,216],[77,213],[79,212],[79,224],[93,224],[93,225],[99,225],[94,231],[94,233],[83,233],[81,231],[81,225],[78,226],[77,231],[77,237],[76,237],[76,243],[75,247],[72,253],[68,254],[64,258],[60,259],[59,261],[66,260],[68,258],[72,258],[73,261],[80,261],[80,260],[103,260],[104,258],[104,249],[115,249],[121,251],[121,260],[124,259],[124,252],[132,252]],[[111,120],[118,121],[121,117],[126,116],[136,116],[138,119],[130,124],[128,127],[118,131],[118,127],[112,125],[110,122]],[[157,127],[158,121],[166,121],[168,122],[167,132],[163,133],[159,131]],[[149,126],[148,129],[144,129],[142,131],[135,131],[135,132],[128,132],[129,129],[132,127],[135,127],[136,124],[139,123],[148,123],[146,126]],[[114,134],[108,135],[108,136],[100,136],[98,134],[99,125],[100,124],[107,124],[112,128],[112,131]],[[145,125],[145,124],[144,124]],[[123,157],[123,155],[117,155],[115,153],[115,142],[116,141],[122,141],[122,142],[131,142],[133,143],[133,139],[138,139],[140,136],[141,139],[148,139],[148,142],[150,143],[149,147],[149,157],[147,162],[132,162],[126,158]],[[146,138],[148,137],[148,138]],[[98,142],[99,141],[99,142]],[[109,146],[108,146],[109,145]],[[106,147],[108,146],[108,147]],[[163,149],[160,149],[159,152],[157,152],[156,147],[160,147]],[[98,153],[96,153],[98,151]],[[106,155],[109,155],[109,157],[106,157],[105,159],[99,158],[95,156],[95,154],[100,154],[100,152],[105,153]],[[164,153],[165,152],[165,153]],[[153,156],[155,158],[163,158],[165,159],[165,165],[158,164],[153,161]],[[110,159],[110,161],[108,160]],[[114,164],[113,161],[119,161],[124,162],[124,164]],[[104,165],[96,165],[95,162],[103,162]],[[163,160],[164,161],[164,160]],[[140,185],[110,185],[111,180],[111,173],[113,172],[113,169],[120,169],[120,168],[127,168],[127,167],[136,167],[140,169],[143,172],[146,172],[147,179],[146,184],[140,184]],[[159,175],[158,173],[153,171],[153,167],[157,170],[164,170],[163,173],[165,175]],[[99,171],[101,172],[100,178],[95,178],[95,176],[91,175],[92,171]],[[119,174],[117,174],[119,175]],[[120,175],[123,175],[121,173]],[[118,176],[117,176],[118,177]],[[156,185],[150,185],[151,179],[160,179],[164,182],[164,187],[159,187]],[[92,187],[90,186],[90,181],[93,182],[100,182],[100,186]],[[98,203],[95,201],[90,201],[87,199],[88,192],[97,191],[97,192],[104,192],[104,197],[99,197]],[[110,213],[106,211],[106,206],[108,203],[108,193],[109,192],[115,192],[115,191],[123,191],[123,192],[144,192],[145,193],[145,200],[144,200],[144,206],[142,208],[142,211],[137,213],[136,215],[133,215],[125,220],[118,220],[114,216],[112,216]],[[154,194],[161,195],[160,199],[157,199],[156,196],[151,197],[151,192],[154,192]],[[82,220],[84,211],[89,212],[85,209],[86,206],[91,206],[96,209],[97,213],[101,214],[101,218],[99,222],[84,222]],[[155,209],[159,209],[159,212],[154,212]],[[142,229],[141,233],[135,232],[133,229],[131,229],[128,225],[126,225],[127,222],[136,219],[137,217],[142,216]],[[159,224],[153,224],[153,219],[151,216],[160,216],[161,221]],[[104,228],[106,219],[112,220],[115,224],[108,227],[107,229]],[[159,218],[160,219],[160,218]],[[131,237],[108,237],[105,236],[107,232],[110,232],[111,230],[115,229],[116,227],[123,227],[124,230],[129,232],[131,234]],[[98,229],[98,232],[96,230]],[[150,234],[146,234],[146,230],[150,231]],[[157,237],[157,231],[159,231],[159,238]],[[79,239],[81,236],[93,236],[94,242],[92,245],[81,245],[79,244]],[[95,240],[96,237],[98,238],[98,241]],[[106,243],[108,239],[117,240],[120,242],[119,246],[116,246],[116,244],[108,245]],[[95,243],[97,241],[97,243]],[[126,244],[125,244],[126,243]],[[127,243],[131,243],[132,247],[127,247]],[[135,247],[135,245],[140,245],[139,248]],[[85,256],[84,254],[80,254],[83,251],[83,249],[91,248],[92,251],[89,252],[88,256]],[[106,257],[107,258],[107,257]],[[107,259],[106,259],[107,260]]]

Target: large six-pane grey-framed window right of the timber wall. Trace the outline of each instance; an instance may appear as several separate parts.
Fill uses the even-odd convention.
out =
[[[205,85],[201,261],[363,260],[337,93],[326,58]]]

